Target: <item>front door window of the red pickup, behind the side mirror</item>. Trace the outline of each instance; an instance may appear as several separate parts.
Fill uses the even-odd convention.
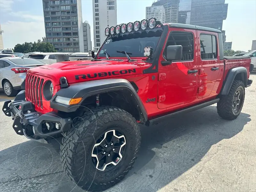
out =
[[[173,31],[170,33],[166,47],[169,45],[182,45],[181,60],[193,60],[194,58],[194,36],[189,32]],[[165,48],[166,48],[165,47]]]

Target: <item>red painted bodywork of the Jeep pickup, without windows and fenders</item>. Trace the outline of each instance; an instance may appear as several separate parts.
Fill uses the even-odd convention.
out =
[[[223,81],[227,76],[228,70],[243,66],[247,69],[249,78],[250,59],[220,60],[219,42],[217,39],[217,59],[202,60],[200,55],[200,34],[212,34],[216,37],[217,33],[207,31],[197,31],[194,29],[169,28],[168,36],[171,31],[190,32],[194,36],[194,58],[191,61],[172,62],[170,65],[163,66],[161,61],[165,61],[163,50],[159,55],[158,72],[143,74],[142,71],[151,67],[152,64],[144,62],[146,58],[132,58],[135,61],[128,62],[123,58],[111,58],[116,60],[97,60],[97,61],[66,61],[54,63],[52,65],[41,66],[28,70],[37,78],[44,78],[44,83],[51,80],[55,94],[60,90],[60,77],[65,76],[69,84],[85,82],[105,78],[124,78],[130,82],[135,82],[138,86],[138,95],[146,109],[148,119],[179,110],[196,103],[210,100],[220,93]],[[101,58],[105,59],[105,58]],[[225,69],[224,69],[225,62]],[[212,67],[219,70],[212,71]],[[188,70],[198,70],[195,74],[188,74]],[[43,108],[37,105],[30,95],[31,86],[26,80],[26,100],[35,104],[36,111],[50,112],[50,102],[45,100],[42,95]],[[41,90],[43,92],[43,89]],[[39,93],[39,90],[38,90]],[[156,98],[155,102],[146,102],[148,99]]]

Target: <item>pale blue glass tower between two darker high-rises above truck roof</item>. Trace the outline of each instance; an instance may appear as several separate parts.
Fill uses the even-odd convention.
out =
[[[190,24],[191,0],[180,0],[178,23]]]

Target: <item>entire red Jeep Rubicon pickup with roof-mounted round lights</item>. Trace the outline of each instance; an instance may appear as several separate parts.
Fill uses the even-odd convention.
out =
[[[29,69],[3,111],[12,128],[48,143],[62,136],[68,177],[84,190],[104,190],[132,168],[139,124],[217,103],[218,114],[241,112],[253,65],[224,57],[221,31],[155,18],[106,28],[92,60]]]

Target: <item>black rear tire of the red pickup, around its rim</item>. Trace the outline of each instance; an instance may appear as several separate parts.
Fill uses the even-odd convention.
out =
[[[239,105],[239,109],[236,112],[234,112],[232,108],[232,102],[233,102],[233,97],[238,90],[242,94],[242,97],[241,97],[242,100],[241,100],[241,105]],[[220,97],[220,101],[217,103],[217,112],[219,116],[227,120],[236,119],[241,113],[241,110],[243,108],[244,96],[245,96],[244,83],[240,80],[234,80],[228,92],[228,95],[222,95]]]

